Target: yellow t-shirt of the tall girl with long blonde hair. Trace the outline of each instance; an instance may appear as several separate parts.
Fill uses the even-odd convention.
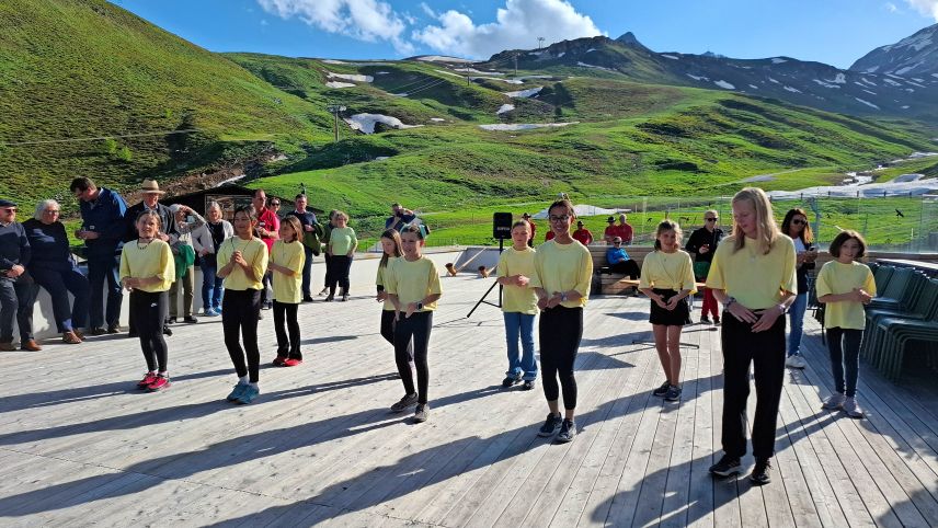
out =
[[[708,288],[725,290],[751,310],[774,307],[781,302],[783,292],[798,291],[794,242],[790,238],[779,237],[767,255],[750,238],[733,253],[733,239],[729,237],[717,248],[707,275]]]

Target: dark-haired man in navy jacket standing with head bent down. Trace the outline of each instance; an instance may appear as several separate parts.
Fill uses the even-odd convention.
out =
[[[91,334],[116,334],[124,292],[121,290],[119,252],[124,246],[127,204],[117,192],[98,187],[88,177],[76,177],[69,186],[81,206],[81,228],[75,236],[88,248],[88,282],[91,285],[89,322]],[[104,312],[104,282],[107,280],[107,312]]]

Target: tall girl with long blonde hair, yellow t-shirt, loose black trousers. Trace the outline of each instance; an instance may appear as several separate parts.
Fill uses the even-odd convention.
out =
[[[750,365],[756,381],[752,422],[755,485],[771,481],[776,423],[785,380],[785,317],[798,291],[794,243],[775,223],[771,204],[760,188],[733,196],[733,234],[713,254],[707,287],[723,303],[722,458],[710,472],[728,477],[742,471],[746,454],[746,399]]]

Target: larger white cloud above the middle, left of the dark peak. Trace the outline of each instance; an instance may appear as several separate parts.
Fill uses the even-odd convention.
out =
[[[268,0],[270,1],[270,0]],[[488,58],[504,49],[530,49],[538,37],[546,43],[602,35],[590,16],[564,0],[506,0],[496,22],[476,25],[468,15],[447,11],[439,25],[413,32],[417,42],[444,53]]]

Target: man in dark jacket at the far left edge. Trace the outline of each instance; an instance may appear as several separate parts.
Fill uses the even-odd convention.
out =
[[[15,351],[13,317],[20,326],[20,346],[24,351],[43,349],[33,338],[33,303],[38,286],[26,273],[30,240],[16,221],[16,204],[0,199],[0,351]]]

